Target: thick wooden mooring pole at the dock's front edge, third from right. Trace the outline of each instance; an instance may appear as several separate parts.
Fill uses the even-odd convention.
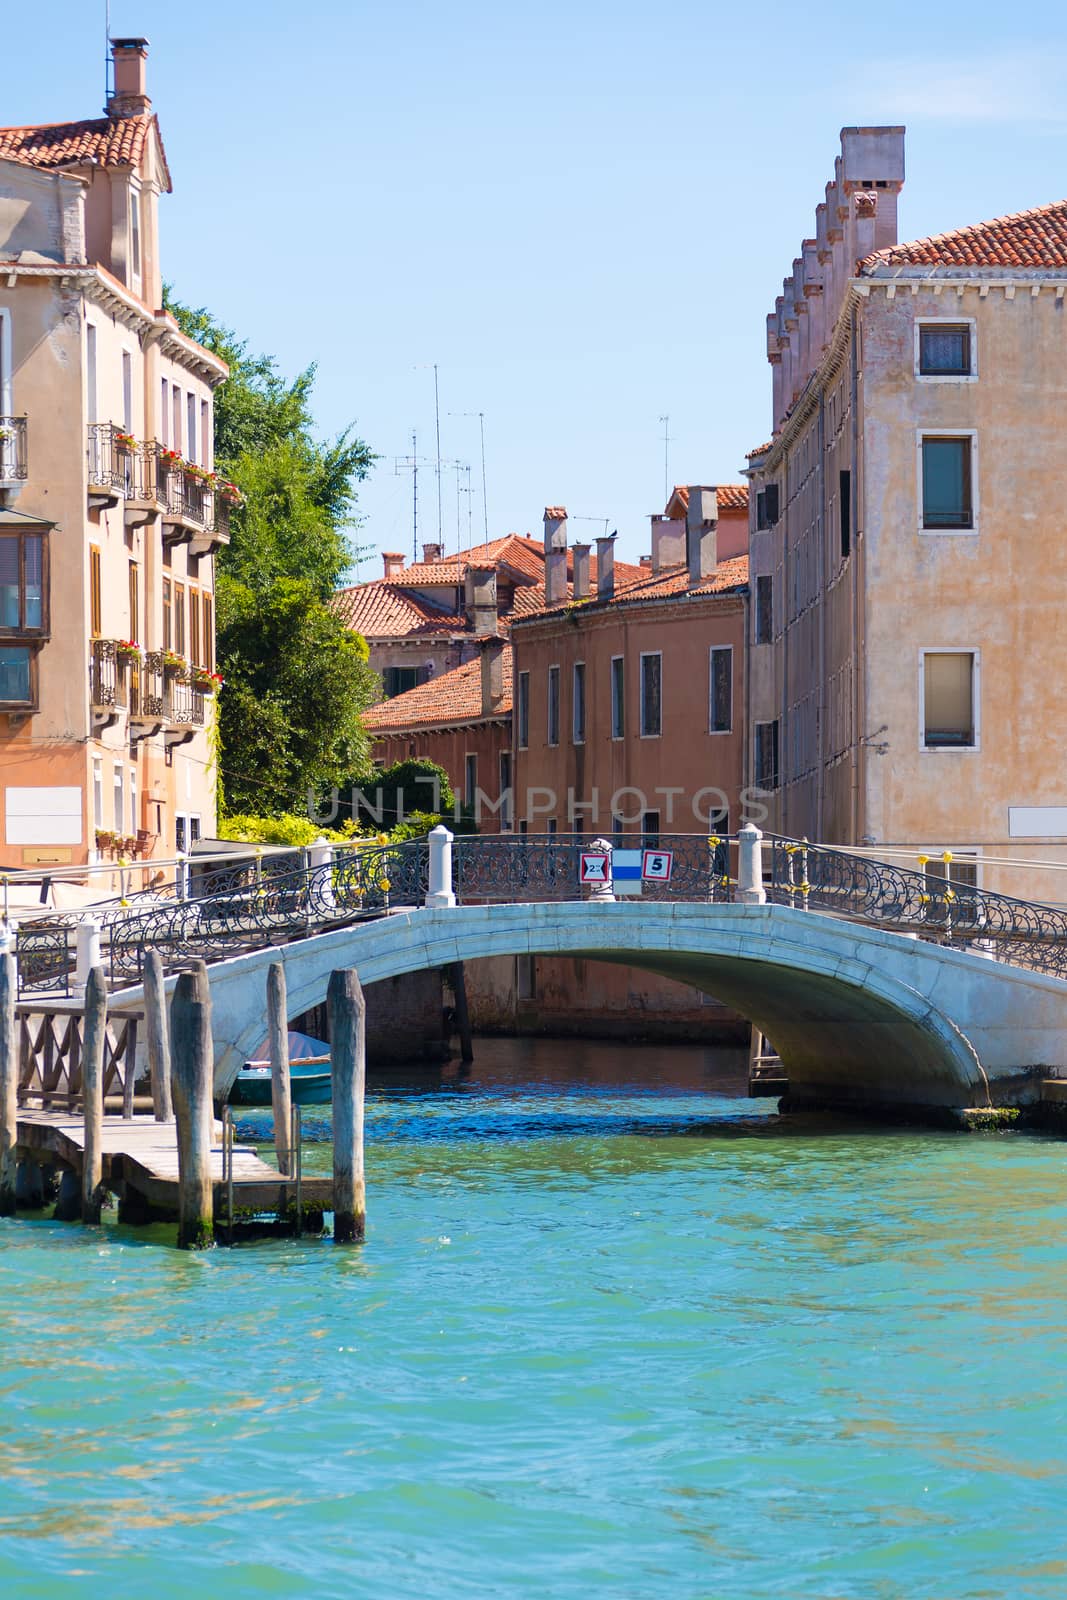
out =
[[[195,962],[182,973],[171,1003],[171,1088],[178,1123],[178,1246],[205,1250],[214,1242],[211,1187],[211,989],[208,968]]]

